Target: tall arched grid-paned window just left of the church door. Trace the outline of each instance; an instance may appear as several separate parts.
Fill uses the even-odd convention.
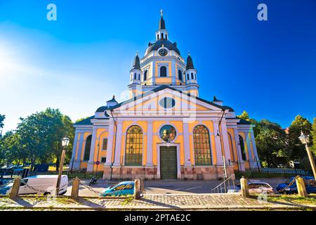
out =
[[[143,131],[133,125],[126,132],[125,165],[142,165],[143,163]]]

